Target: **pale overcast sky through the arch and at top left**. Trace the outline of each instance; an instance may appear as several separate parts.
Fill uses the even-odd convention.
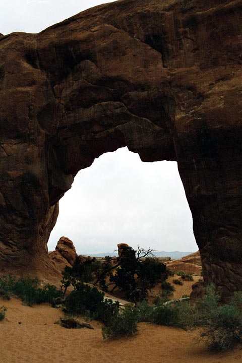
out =
[[[105,0],[0,0],[0,33],[36,33]],[[143,163],[119,149],[81,170],[59,202],[48,243],[73,240],[80,254],[112,252],[118,243],[157,251],[197,251],[192,216],[176,162]]]

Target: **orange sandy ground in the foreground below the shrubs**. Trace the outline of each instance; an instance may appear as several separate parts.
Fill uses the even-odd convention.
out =
[[[65,329],[54,324],[63,316],[48,304],[22,305],[1,300],[8,310],[0,322],[0,361],[5,363],[230,363],[242,361],[242,348],[213,354],[196,344],[198,332],[139,324],[136,337],[103,340],[101,324],[94,330]]]

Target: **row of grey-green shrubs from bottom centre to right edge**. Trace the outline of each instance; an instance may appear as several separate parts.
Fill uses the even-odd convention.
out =
[[[242,343],[242,292],[234,293],[225,305],[220,304],[213,284],[206,287],[205,295],[194,305],[189,301],[164,304],[160,298],[156,305],[149,305],[144,300],[136,308],[126,308],[114,316],[103,328],[103,337],[134,334],[137,323],[143,321],[185,329],[200,326],[199,340],[205,340],[213,350],[224,351]]]

